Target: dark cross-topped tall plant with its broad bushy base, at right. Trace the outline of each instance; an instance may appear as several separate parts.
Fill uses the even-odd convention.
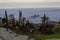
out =
[[[47,33],[49,33],[49,34],[51,34],[51,33],[53,33],[52,32],[52,25],[49,23],[48,24],[48,17],[46,17],[46,15],[44,14],[44,16],[43,17],[41,17],[41,19],[42,19],[42,25],[41,25],[41,27],[40,27],[40,31],[43,33],[43,34],[47,34]]]

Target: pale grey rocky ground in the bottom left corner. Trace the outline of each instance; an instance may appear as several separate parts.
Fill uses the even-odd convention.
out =
[[[11,30],[0,28],[0,40],[27,40],[27,35],[17,35]]]

